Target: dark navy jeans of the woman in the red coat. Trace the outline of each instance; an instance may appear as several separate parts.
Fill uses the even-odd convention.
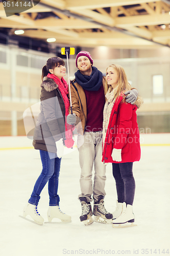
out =
[[[113,177],[116,181],[118,203],[133,204],[135,180],[132,172],[133,163],[112,163]]]

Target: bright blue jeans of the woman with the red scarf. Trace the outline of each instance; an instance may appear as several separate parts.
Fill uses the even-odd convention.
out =
[[[49,154],[49,155],[48,155]],[[60,174],[61,158],[57,154],[40,150],[40,157],[42,162],[42,172],[38,177],[34,189],[29,199],[30,204],[38,205],[40,200],[40,193],[48,181],[48,194],[50,197],[50,206],[59,205],[58,182]]]

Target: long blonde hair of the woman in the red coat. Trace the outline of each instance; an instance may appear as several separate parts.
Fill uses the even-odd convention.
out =
[[[116,100],[122,92],[125,93],[127,91],[130,91],[130,90],[132,90],[132,87],[130,86],[130,83],[128,82],[127,75],[122,66],[117,65],[117,64],[111,64],[109,67],[112,67],[117,72],[116,94],[114,97],[114,99]],[[109,67],[107,67],[106,72]],[[112,86],[107,83],[107,79],[106,79],[106,83],[105,83],[106,93],[110,87],[112,87]],[[125,101],[126,96],[125,95],[122,95],[122,96],[124,98],[123,101]]]

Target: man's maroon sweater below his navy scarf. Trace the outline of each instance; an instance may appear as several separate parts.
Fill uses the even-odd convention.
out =
[[[103,130],[103,109],[105,93],[103,86],[99,91],[86,91],[87,120],[85,132],[98,132]]]

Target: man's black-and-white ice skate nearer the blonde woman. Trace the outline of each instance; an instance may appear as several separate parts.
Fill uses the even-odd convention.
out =
[[[113,215],[105,209],[104,197],[100,196],[98,202],[94,202],[93,220],[98,223],[111,224]]]

